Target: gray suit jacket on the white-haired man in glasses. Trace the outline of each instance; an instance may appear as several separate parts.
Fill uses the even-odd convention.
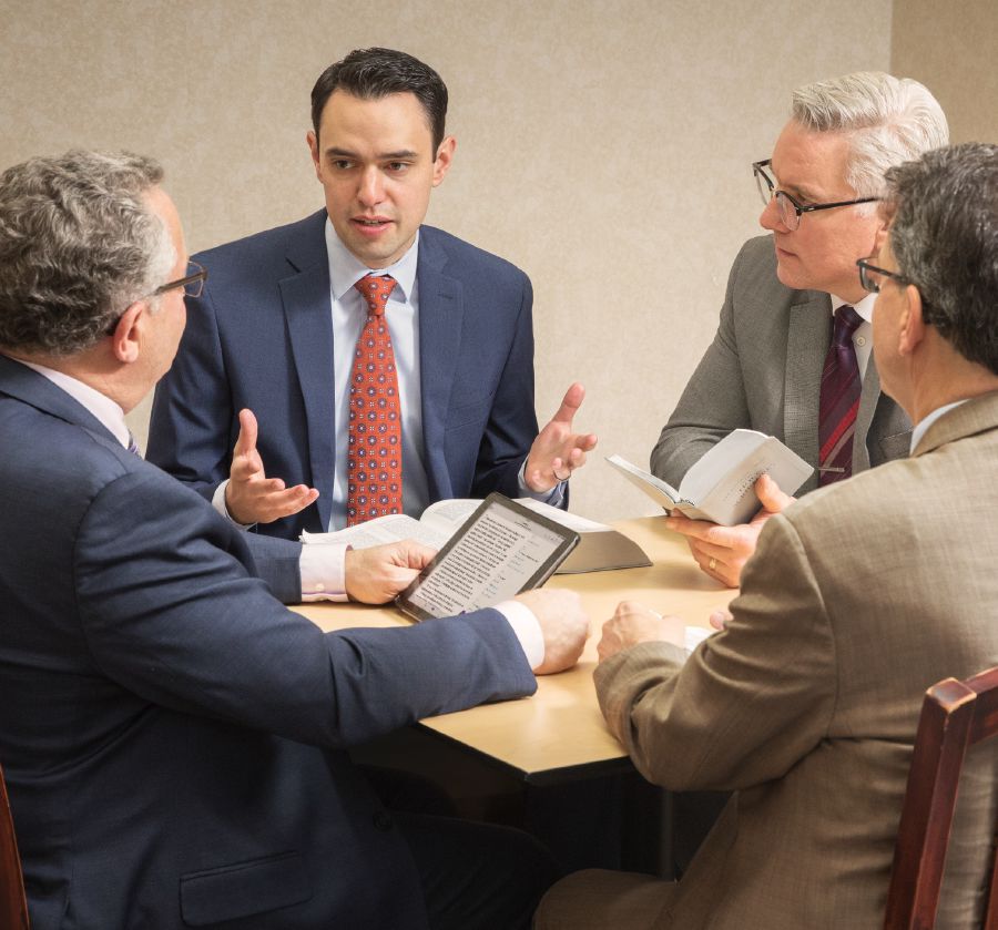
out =
[[[652,471],[679,486],[686,470],[733,429],[783,440],[817,468],[822,368],[832,340],[832,303],[776,277],[772,236],[742,246],[727,280],[714,341],[651,456]],[[870,357],[853,447],[853,473],[908,453],[912,425],[890,398]],[[817,472],[801,492],[817,487]]]

